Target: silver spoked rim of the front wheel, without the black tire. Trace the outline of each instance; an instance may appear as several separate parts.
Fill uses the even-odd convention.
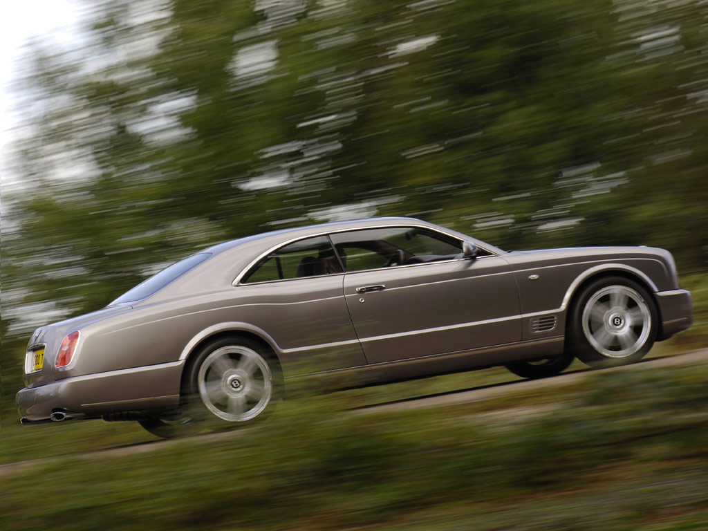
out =
[[[596,292],[583,309],[583,333],[588,343],[608,358],[624,358],[644,346],[651,332],[649,304],[624,285]]]

